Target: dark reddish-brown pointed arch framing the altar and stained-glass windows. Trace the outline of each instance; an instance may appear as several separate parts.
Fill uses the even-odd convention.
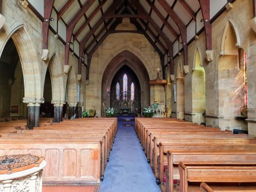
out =
[[[150,105],[150,86],[149,86],[149,76],[147,69],[143,65],[142,61],[135,56],[130,51],[123,51],[115,56],[106,67],[102,76],[102,103],[101,111],[105,110],[110,106],[110,98],[108,95],[108,90],[112,84],[112,80],[115,74],[118,72],[122,66],[127,65],[131,68],[136,76],[138,77],[139,84],[141,86],[141,107],[147,107]],[[104,106],[104,108],[103,108]]]

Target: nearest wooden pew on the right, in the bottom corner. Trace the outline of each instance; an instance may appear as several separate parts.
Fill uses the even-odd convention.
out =
[[[234,165],[184,165],[179,164],[180,185],[179,192],[200,191],[200,186],[191,186],[196,182],[215,183],[251,183],[255,187],[256,166],[234,166]],[[225,186],[222,186],[225,188]],[[228,186],[229,187],[229,186]],[[254,188],[256,189],[256,187]]]

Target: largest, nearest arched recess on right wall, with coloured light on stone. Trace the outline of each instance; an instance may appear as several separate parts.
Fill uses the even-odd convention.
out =
[[[222,39],[223,55],[218,64],[218,103],[221,128],[247,130],[247,123],[241,122],[241,108],[245,98],[245,70],[241,65],[240,39],[234,23],[228,21]]]

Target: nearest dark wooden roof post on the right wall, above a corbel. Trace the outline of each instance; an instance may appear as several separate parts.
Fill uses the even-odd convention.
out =
[[[212,50],[212,23],[210,23],[210,0],[199,0],[204,18],[206,50]]]

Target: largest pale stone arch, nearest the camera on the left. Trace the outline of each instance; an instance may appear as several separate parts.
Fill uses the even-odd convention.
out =
[[[18,24],[15,28],[9,28],[6,33],[9,35],[6,36],[3,45],[12,38],[22,64],[24,98],[30,101],[32,100],[32,102],[35,102],[35,100],[43,100],[43,84],[41,81],[40,62],[31,37],[23,24]],[[1,54],[2,52],[3,48],[1,49]]]

